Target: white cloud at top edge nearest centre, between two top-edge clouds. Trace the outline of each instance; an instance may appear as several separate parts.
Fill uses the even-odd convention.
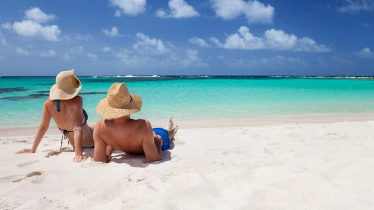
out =
[[[200,16],[199,13],[185,0],[169,0],[169,10],[158,9],[156,16],[159,18],[192,18]]]

